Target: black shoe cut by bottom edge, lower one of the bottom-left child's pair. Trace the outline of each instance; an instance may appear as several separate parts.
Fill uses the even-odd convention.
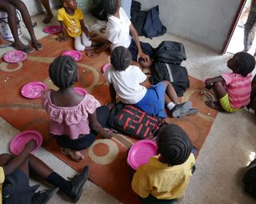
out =
[[[45,204],[50,200],[50,198],[56,194],[58,191],[58,187],[53,187],[49,190],[42,190],[35,192],[32,197],[32,203],[37,203],[37,204]]]

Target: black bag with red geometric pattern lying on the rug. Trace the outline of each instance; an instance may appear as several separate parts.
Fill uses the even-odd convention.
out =
[[[118,103],[110,112],[108,124],[111,128],[136,139],[151,139],[157,135],[164,120],[149,116],[133,105]]]

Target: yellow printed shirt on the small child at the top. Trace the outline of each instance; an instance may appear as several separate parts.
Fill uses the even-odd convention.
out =
[[[66,26],[66,32],[70,35],[70,37],[77,37],[82,34],[82,28],[80,24],[80,20],[83,20],[82,10],[79,8],[74,10],[74,15],[70,15],[66,13],[65,8],[61,8],[58,10],[58,21],[64,22]]]

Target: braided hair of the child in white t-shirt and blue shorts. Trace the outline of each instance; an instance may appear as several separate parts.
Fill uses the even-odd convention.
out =
[[[131,54],[129,50],[123,46],[116,47],[111,53],[110,62],[115,71],[126,70],[131,61]]]

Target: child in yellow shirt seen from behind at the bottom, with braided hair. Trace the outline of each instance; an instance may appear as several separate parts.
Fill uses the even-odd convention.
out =
[[[174,203],[190,182],[195,163],[192,143],[176,124],[167,124],[158,132],[158,155],[138,167],[132,188],[143,203]]]

